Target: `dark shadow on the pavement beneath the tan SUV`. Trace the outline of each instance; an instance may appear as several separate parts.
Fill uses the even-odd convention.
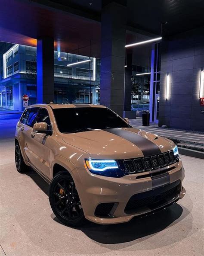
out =
[[[39,186],[46,195],[49,195],[49,184],[42,179],[40,175],[38,175],[34,170],[29,170],[27,175],[34,180],[37,186]],[[73,228],[81,230],[87,235],[87,237],[98,243],[126,243],[164,230],[174,221],[179,219],[182,212],[182,207],[175,203],[164,210],[142,218],[135,217],[126,223],[100,225],[86,221],[82,227]],[[59,224],[62,224],[54,214],[51,214],[51,218]]]

